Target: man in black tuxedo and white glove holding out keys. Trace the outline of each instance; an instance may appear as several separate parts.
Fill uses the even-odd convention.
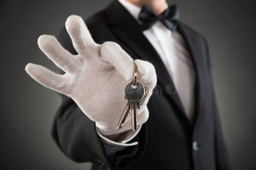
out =
[[[59,37],[68,51],[52,36],[38,39],[66,74],[26,67],[36,81],[66,95],[52,129],[60,149],[74,161],[92,162],[92,169],[230,169],[206,40],[178,20],[176,6],[115,0],[86,25],[92,38],[81,18],[68,18]],[[107,87],[128,84],[134,63],[149,93],[138,129],[130,130],[130,117],[117,129],[127,101]],[[96,93],[95,86],[107,91]]]

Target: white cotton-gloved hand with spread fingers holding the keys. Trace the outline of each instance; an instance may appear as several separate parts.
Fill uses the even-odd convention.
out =
[[[71,97],[95,122],[101,134],[111,135],[131,129],[130,114],[121,129],[117,129],[116,124],[128,102],[124,99],[124,87],[133,79],[135,62],[137,82],[149,89],[138,111],[138,125],[145,123],[148,99],[156,85],[154,66],[147,61],[133,61],[114,42],[95,43],[83,19],[78,16],[68,17],[66,29],[78,55],[70,54],[53,36],[38,38],[39,48],[66,74],[56,74],[32,63],[26,66],[27,73],[42,85]]]

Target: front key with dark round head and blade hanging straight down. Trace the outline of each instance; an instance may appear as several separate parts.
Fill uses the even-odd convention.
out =
[[[145,95],[145,89],[139,82],[133,86],[133,81],[130,82],[124,90],[124,95],[130,101],[131,106],[131,118],[132,118],[132,130],[135,131],[138,128],[138,109],[140,109],[140,100]]]

